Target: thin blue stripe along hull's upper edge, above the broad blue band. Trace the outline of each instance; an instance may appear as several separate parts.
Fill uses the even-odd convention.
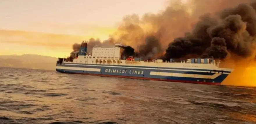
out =
[[[75,64],[75,65],[85,65],[84,63],[64,63],[65,64]],[[133,67],[133,68],[156,68],[156,69],[179,69],[179,70],[184,70],[185,68],[165,68],[165,67],[149,67],[149,66],[133,66],[133,65],[106,65],[106,64],[86,64],[86,65],[99,65],[99,66],[113,66],[113,67]],[[63,66],[63,65],[57,65],[57,66]],[[69,66],[69,65],[68,65]],[[195,71],[213,71],[209,69],[190,69],[186,68],[186,70],[195,70]],[[223,71],[224,73],[231,73],[230,71]]]

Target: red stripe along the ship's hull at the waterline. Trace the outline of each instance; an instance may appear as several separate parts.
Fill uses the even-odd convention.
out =
[[[63,72],[61,72],[61,73],[63,73]],[[118,76],[118,75],[105,75],[105,74],[90,74],[90,73],[68,73],[68,74],[83,74],[83,75],[93,75],[93,76],[106,76],[106,77],[118,77],[118,78],[128,78],[128,79],[141,79],[141,80],[153,80],[153,81],[180,82],[180,83],[195,83],[195,84],[205,84],[205,85],[221,85],[221,83],[211,83],[211,82],[180,81],[180,80],[156,79],[156,78],[143,78],[143,77],[132,77],[132,76]]]

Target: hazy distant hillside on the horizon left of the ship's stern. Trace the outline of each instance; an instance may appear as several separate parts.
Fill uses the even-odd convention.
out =
[[[35,54],[0,56],[0,67],[54,70],[58,58]]]

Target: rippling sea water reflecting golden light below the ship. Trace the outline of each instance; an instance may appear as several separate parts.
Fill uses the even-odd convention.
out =
[[[0,124],[255,124],[256,88],[0,67]]]

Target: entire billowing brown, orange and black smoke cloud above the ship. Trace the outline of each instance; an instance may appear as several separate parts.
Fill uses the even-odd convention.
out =
[[[122,55],[144,59],[246,58],[255,53],[255,10],[253,0],[172,0],[157,14],[125,16],[108,40],[90,39],[88,51],[123,43]]]

